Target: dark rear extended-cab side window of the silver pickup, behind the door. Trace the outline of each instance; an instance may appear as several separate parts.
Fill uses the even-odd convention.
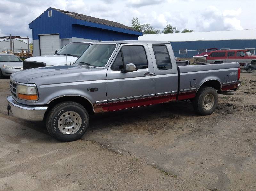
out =
[[[171,59],[166,45],[152,45],[156,58],[156,65],[159,70],[172,69]]]

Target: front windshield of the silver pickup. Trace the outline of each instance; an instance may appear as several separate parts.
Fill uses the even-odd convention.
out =
[[[116,44],[91,44],[75,64],[104,67],[115,48]]]

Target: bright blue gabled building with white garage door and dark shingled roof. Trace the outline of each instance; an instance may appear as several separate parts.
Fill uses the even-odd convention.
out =
[[[142,32],[123,24],[49,8],[29,24],[34,56],[54,54],[69,42],[138,40]]]

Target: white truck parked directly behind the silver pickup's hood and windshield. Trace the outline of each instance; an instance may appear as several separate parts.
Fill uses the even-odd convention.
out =
[[[70,42],[54,55],[36,56],[23,61],[23,69],[38,68],[44,66],[66,65],[75,62],[92,42]]]

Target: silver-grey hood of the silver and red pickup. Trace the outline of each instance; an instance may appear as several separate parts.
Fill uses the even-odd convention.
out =
[[[13,73],[10,79],[20,83],[35,83],[33,79],[40,78],[40,84],[62,83],[64,81],[79,81],[78,78],[85,81],[84,76],[95,71],[105,70],[103,68],[87,68],[83,65],[61,65],[41,68],[32,68],[28,70]],[[93,76],[94,75],[94,76]],[[90,75],[94,80],[97,79],[97,73]],[[106,77],[106,76],[105,76]],[[86,80],[91,80],[86,78]],[[29,81],[29,82],[28,82]],[[42,82],[42,83],[41,83]]]

